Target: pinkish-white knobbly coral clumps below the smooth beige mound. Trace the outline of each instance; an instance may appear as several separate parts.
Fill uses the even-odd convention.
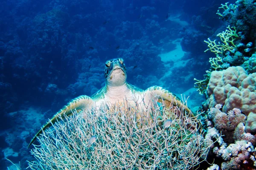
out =
[[[220,133],[224,135],[217,141],[218,146],[213,148],[213,153],[223,161],[221,169],[255,169],[256,150],[253,145],[256,144],[256,136],[245,133],[246,116],[237,108],[228,113],[223,113],[220,109],[221,105],[216,105],[208,112],[208,130],[215,136],[220,136]],[[217,169],[218,165],[214,167]]]

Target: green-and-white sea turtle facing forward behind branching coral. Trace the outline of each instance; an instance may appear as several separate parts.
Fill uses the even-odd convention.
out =
[[[150,102],[152,96],[159,96],[163,100],[167,100],[171,102],[173,105],[184,108],[187,113],[191,113],[192,111],[180,101],[180,99],[169,92],[168,90],[161,88],[159,86],[152,86],[145,91],[135,87],[134,85],[130,85],[126,82],[127,74],[126,67],[124,64],[124,60],[122,58],[116,58],[108,60],[105,63],[105,86],[100,89],[96,94],[89,97],[86,95],[81,95],[71,100],[64,106],[58,113],[56,113],[52,119],[49,120],[41,130],[34,136],[34,138],[29,143],[29,146],[36,140],[37,136],[39,136],[43,130],[47,127],[50,127],[53,123],[59,119],[59,117],[70,116],[73,114],[73,110],[76,111],[85,110],[90,108],[99,107],[102,104],[113,105],[113,104],[125,104],[124,101],[131,102],[129,104],[132,105],[134,99],[136,99],[136,103],[143,103],[141,105],[141,109],[150,106]],[[28,146],[28,147],[29,147]]]

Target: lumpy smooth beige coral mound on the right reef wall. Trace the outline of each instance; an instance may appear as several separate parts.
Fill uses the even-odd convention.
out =
[[[225,113],[239,108],[247,116],[245,130],[256,132],[256,73],[248,75],[240,66],[212,71],[207,95],[204,108],[222,104]]]

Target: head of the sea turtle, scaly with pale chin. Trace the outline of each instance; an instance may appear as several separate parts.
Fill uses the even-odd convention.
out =
[[[126,83],[126,67],[122,58],[111,59],[105,65],[106,84],[110,86],[120,86]]]

